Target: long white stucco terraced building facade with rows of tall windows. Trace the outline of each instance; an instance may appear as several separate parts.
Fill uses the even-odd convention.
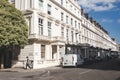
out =
[[[93,52],[104,55],[109,50],[117,51],[116,42],[83,12],[77,0],[10,0],[10,3],[23,12],[29,26],[29,45],[21,49],[13,67],[23,67],[26,56],[33,60],[33,68],[38,69],[59,65],[66,52],[89,57]],[[66,46],[70,49],[66,50]]]

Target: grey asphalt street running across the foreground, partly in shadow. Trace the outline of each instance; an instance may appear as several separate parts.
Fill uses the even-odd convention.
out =
[[[1,70],[0,80],[120,80],[116,59],[74,67],[49,67],[39,70]]]

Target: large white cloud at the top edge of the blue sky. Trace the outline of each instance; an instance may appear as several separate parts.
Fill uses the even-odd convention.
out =
[[[106,11],[116,7],[114,3],[120,0],[78,0],[80,6],[87,11]]]

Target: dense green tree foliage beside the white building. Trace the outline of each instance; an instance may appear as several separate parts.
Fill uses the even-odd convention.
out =
[[[23,14],[7,0],[0,0],[0,47],[28,42],[28,27]]]

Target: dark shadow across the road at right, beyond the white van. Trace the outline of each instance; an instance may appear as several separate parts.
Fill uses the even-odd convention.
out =
[[[97,63],[87,64],[87,65],[80,66],[80,68],[120,71],[120,65],[118,65],[117,59],[111,59],[108,61],[104,60]]]

